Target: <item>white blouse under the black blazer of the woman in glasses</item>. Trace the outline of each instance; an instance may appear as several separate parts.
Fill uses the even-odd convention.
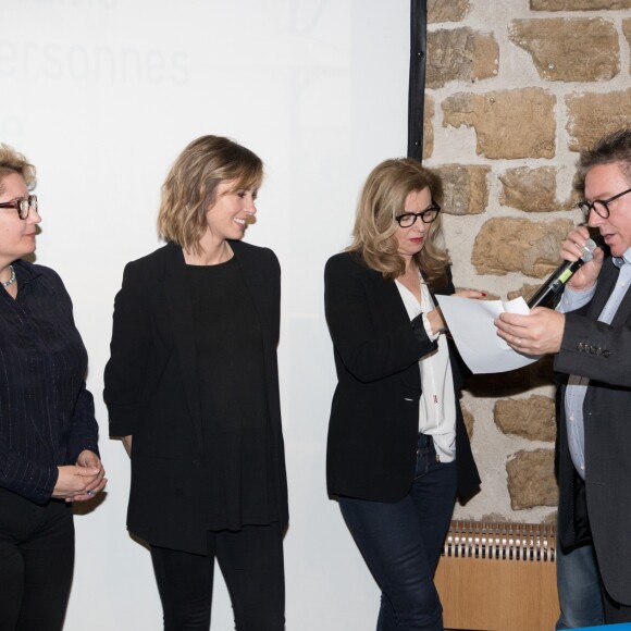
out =
[[[419,274],[420,276],[420,274]],[[408,317],[413,320],[423,313],[423,323],[430,339],[432,334],[425,313],[435,308],[428,285],[421,277],[421,301],[403,284],[396,281]],[[419,432],[430,434],[441,462],[456,459],[456,395],[454,375],[449,360],[449,348],[444,334],[438,337],[438,349],[419,359],[422,394],[419,401]]]

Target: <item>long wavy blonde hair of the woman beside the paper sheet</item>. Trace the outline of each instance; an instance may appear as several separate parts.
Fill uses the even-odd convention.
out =
[[[410,193],[429,188],[432,200],[443,201],[443,185],[436,173],[411,158],[385,160],[378,164],[366,181],[355,220],[352,244],[348,251],[360,255],[366,264],[392,281],[405,273],[404,258],[398,253],[395,218],[406,211]],[[417,221],[421,221],[420,218]],[[432,287],[447,282],[449,257],[441,244],[441,215],[428,224],[423,249],[415,262]]]

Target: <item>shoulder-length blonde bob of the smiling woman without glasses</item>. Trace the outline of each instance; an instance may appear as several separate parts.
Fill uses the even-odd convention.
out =
[[[222,136],[201,136],[182,151],[162,185],[158,232],[186,251],[199,255],[207,230],[206,213],[216,201],[221,182],[232,182],[228,193],[256,190],[263,180],[261,159]]]

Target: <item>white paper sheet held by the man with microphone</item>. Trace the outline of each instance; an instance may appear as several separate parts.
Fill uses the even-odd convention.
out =
[[[436,296],[449,333],[465,363],[474,374],[507,372],[535,362],[539,357],[516,352],[497,335],[493,320],[503,312],[528,314],[523,298],[474,300],[457,296]]]

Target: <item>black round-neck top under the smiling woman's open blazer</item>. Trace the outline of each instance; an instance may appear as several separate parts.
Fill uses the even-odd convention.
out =
[[[201,395],[208,528],[280,521],[269,494],[271,462],[263,339],[233,258],[188,265]]]

